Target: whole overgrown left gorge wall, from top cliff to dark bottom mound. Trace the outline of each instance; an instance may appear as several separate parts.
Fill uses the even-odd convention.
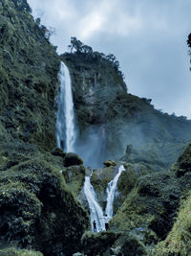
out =
[[[71,255],[89,220],[60,173],[65,154],[51,153],[60,59],[30,12],[0,0],[0,248]]]

